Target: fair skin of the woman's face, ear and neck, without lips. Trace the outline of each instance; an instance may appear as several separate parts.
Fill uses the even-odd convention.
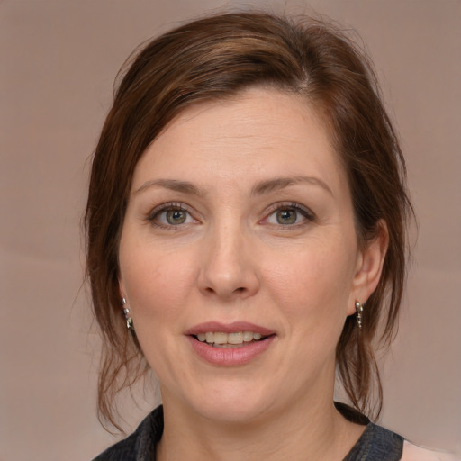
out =
[[[364,428],[334,409],[335,348],[378,283],[385,244],[359,249],[346,174],[299,97],[252,88],[180,114],[135,169],[119,255],[160,382],[158,458],[346,456]],[[216,366],[185,336],[205,321],[276,338],[245,365]]]

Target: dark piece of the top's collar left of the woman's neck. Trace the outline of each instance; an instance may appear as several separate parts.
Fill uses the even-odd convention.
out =
[[[142,420],[138,429],[131,436],[107,448],[93,461],[136,461],[139,455],[142,459],[155,459],[158,440],[163,433],[163,408],[160,405]]]

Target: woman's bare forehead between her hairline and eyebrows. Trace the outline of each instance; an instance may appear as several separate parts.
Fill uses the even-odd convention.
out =
[[[344,181],[327,128],[309,104],[301,96],[259,87],[185,109],[140,158],[133,186],[148,176],[188,179],[203,168],[214,168],[222,180],[283,172],[321,176],[332,187]]]

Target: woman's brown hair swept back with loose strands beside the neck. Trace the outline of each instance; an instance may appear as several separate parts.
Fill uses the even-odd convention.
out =
[[[383,344],[393,339],[411,204],[402,152],[373,69],[331,24],[305,17],[221,14],[187,23],[140,50],[118,86],[95,149],[86,208],[87,276],[104,339],[99,415],[117,428],[114,394],[147,368],[126,329],[117,280],[133,170],[152,140],[186,107],[231,97],[249,86],[299,95],[321,115],[348,174],[359,243],[376,237],[380,220],[386,223],[383,274],[366,303],[363,328],[358,331],[349,317],[337,347],[339,377],[353,405],[368,415],[381,409],[372,342],[376,336]]]

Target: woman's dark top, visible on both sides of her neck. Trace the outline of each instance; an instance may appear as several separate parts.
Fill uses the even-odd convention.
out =
[[[362,436],[343,461],[399,461],[403,438],[370,422],[366,416],[335,402],[338,411],[347,419],[366,424]],[[140,423],[138,429],[121,442],[107,448],[93,461],[155,461],[156,447],[163,434],[163,407],[160,405]]]

